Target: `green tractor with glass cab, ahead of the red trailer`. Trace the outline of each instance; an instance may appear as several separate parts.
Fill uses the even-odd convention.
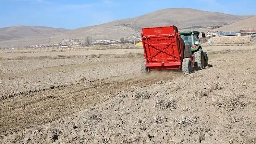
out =
[[[195,57],[195,67],[197,70],[204,69],[208,66],[208,56],[207,53],[202,50],[199,31],[182,31],[180,33],[180,38],[185,43],[184,54],[187,56],[194,55]],[[202,38],[205,38],[205,34],[202,33]]]

